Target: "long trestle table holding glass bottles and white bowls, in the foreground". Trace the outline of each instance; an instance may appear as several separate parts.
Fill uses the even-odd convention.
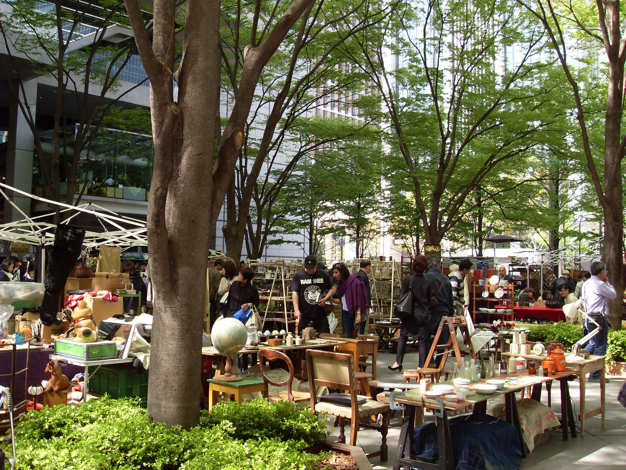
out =
[[[408,414],[405,415],[403,420],[402,429],[400,431],[400,438],[398,442],[398,457],[396,458],[396,464],[394,464],[394,470],[401,468],[410,469],[418,467],[424,470],[453,470],[454,469],[454,452],[452,446],[452,439],[450,434],[450,428],[448,424],[448,412],[463,409],[466,406],[473,405],[473,413],[485,414],[487,410],[487,400],[493,399],[500,395],[504,395],[505,399],[505,413],[506,421],[516,427],[518,436],[520,437],[520,446],[522,456],[526,456],[524,441],[522,439],[520,417],[517,412],[517,402],[515,399],[515,391],[525,389],[528,386],[533,387],[533,393],[531,397],[535,400],[539,400],[541,397],[541,385],[552,380],[559,380],[561,384],[561,419],[562,419],[562,432],[563,441],[568,439],[568,429],[572,434],[572,437],[577,436],[576,426],[574,422],[572,403],[570,401],[568,379],[575,375],[576,372],[572,370],[566,370],[565,372],[557,372],[556,375],[550,375],[548,377],[533,376],[535,379],[534,384],[523,384],[519,386],[510,385],[511,388],[505,388],[496,390],[490,395],[476,394],[471,390],[466,399],[462,402],[451,403],[444,401],[443,399],[430,399],[423,397],[419,390],[409,390],[404,395],[396,395],[394,401],[396,404],[404,404],[409,408]],[[494,379],[503,379],[505,377],[520,377],[527,375],[524,372],[503,374]],[[442,382],[443,384],[453,385],[452,382]],[[475,384],[483,384],[476,382]],[[508,384],[514,384],[515,382],[508,382]],[[470,384],[473,387],[475,384]],[[508,385],[507,384],[507,385]],[[455,387],[456,389],[456,387]],[[436,462],[428,462],[419,459],[419,457],[412,456],[413,449],[413,429],[415,426],[421,426],[422,411],[424,409],[431,409],[434,411],[437,427],[437,440],[439,447],[439,456]],[[418,413],[419,410],[419,413]]]

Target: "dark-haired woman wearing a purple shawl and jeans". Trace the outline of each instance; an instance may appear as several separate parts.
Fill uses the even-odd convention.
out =
[[[354,338],[355,325],[361,323],[361,313],[367,312],[367,290],[358,274],[350,274],[344,263],[332,266],[332,277],[337,279],[337,297],[332,301],[341,304],[341,321],[347,338]],[[364,333],[365,322],[359,331]]]

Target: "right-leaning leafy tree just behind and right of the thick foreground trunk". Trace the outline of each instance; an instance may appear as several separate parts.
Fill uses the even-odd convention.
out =
[[[316,105],[344,110],[347,96],[361,93],[361,71],[354,70],[339,46],[356,50],[365,31],[374,27],[396,8],[397,3],[376,0],[319,2],[305,11],[300,27],[288,34],[260,76],[252,112],[244,127],[244,145],[235,175],[227,192],[226,223],[222,227],[226,252],[233,259],[241,256],[246,231],[252,253],[257,258],[264,244],[262,214],[271,217],[280,187],[294,165],[325,140],[307,139],[304,117]],[[236,102],[240,90],[244,53],[240,44],[255,28],[252,10],[263,9],[270,18],[280,15],[284,2],[224,3],[222,8],[223,94]],[[315,125],[317,123],[314,123]],[[295,138],[294,138],[295,136]],[[300,137],[302,136],[302,137]],[[337,135],[336,139],[347,136]],[[279,169],[278,171],[273,171]],[[251,211],[252,202],[257,203]],[[250,215],[255,214],[256,220]]]

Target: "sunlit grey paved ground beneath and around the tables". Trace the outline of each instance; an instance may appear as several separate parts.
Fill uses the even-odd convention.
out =
[[[401,373],[392,372],[387,365],[393,365],[394,355],[388,352],[379,353],[377,361],[377,380],[383,382],[404,382]],[[415,368],[418,359],[416,349],[409,348],[404,357],[405,368]],[[550,432],[550,441],[535,447],[535,450],[526,459],[522,459],[523,470],[604,470],[618,469],[626,466],[626,409],[617,402],[617,393],[622,387],[624,378],[611,378],[607,384],[605,428],[602,429],[600,416],[585,421],[585,436],[562,440],[562,434]],[[570,394],[575,404],[575,414],[578,414],[578,380],[570,382]],[[543,403],[546,403],[546,394],[543,392]],[[494,400],[496,403],[497,400]],[[600,385],[587,384],[587,410],[600,406]],[[560,393],[552,395],[552,409],[560,415]],[[398,438],[400,434],[401,412],[396,412],[392,418],[387,445],[389,459],[380,462],[377,457],[371,459],[374,469],[391,469],[396,460]],[[428,417],[427,417],[428,420]],[[580,430],[579,430],[580,431]],[[349,428],[346,427],[346,434]],[[339,428],[333,430],[334,436],[339,435]],[[374,452],[381,445],[381,434],[377,431],[362,429],[357,436],[359,446],[366,452]]]

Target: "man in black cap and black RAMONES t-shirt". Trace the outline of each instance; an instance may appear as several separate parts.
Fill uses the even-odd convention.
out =
[[[331,276],[316,266],[316,257],[307,256],[304,259],[304,269],[294,274],[289,290],[294,300],[298,331],[302,332],[312,321],[317,333],[330,333],[324,306],[335,295],[336,289],[332,285]]]

